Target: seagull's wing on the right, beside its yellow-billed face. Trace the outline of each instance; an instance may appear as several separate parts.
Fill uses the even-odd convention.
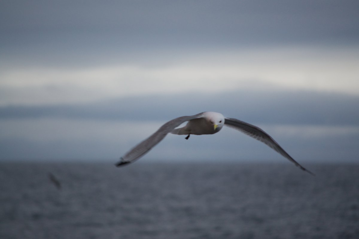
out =
[[[295,161],[287,152],[284,151],[282,147],[280,147],[280,145],[272,137],[270,137],[269,134],[267,134],[257,126],[248,124],[244,121],[237,120],[234,118],[225,118],[224,125],[227,125],[233,129],[237,129],[242,133],[247,134],[248,136],[267,144],[269,147],[271,147],[272,149],[274,149],[275,151],[277,151],[278,153],[280,153],[281,155],[292,161],[295,164],[295,166],[298,166],[300,167],[300,169],[314,175],[311,171],[305,169],[302,165],[300,165],[297,161]]]

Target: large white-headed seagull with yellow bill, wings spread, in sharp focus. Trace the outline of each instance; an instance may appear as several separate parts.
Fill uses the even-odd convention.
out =
[[[188,123],[185,127],[176,129],[176,127],[186,121],[188,121]],[[191,134],[215,134],[222,129],[223,125],[239,130],[240,132],[257,139],[258,141],[267,144],[267,146],[271,147],[289,161],[293,162],[295,166],[308,172],[309,174],[314,175],[311,171],[307,170],[295,161],[269,134],[264,132],[264,130],[238,119],[224,117],[222,114],[217,112],[202,112],[191,116],[181,116],[168,121],[150,137],[137,144],[134,148],[122,156],[116,166],[120,167],[127,165],[144,156],[145,153],[158,144],[168,133],[187,135],[185,139],[188,139]]]

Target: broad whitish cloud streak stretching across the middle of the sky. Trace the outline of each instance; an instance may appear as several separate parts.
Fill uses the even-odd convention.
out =
[[[63,104],[114,97],[305,89],[359,95],[359,49],[262,49],[179,57],[170,64],[3,69],[0,104]]]

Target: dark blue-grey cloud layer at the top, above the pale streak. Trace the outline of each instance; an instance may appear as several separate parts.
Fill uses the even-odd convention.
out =
[[[8,61],[70,66],[176,49],[357,45],[357,9],[358,1],[5,1],[0,50]]]

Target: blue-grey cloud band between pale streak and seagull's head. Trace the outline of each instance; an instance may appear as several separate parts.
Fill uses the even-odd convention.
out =
[[[236,91],[125,97],[79,105],[3,106],[0,119],[169,120],[201,111],[274,124],[357,125],[359,97],[312,91]]]

